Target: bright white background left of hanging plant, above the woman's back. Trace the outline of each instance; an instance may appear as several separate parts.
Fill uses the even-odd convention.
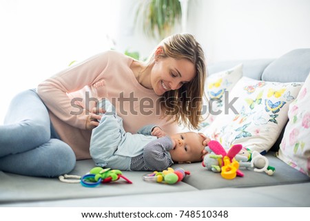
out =
[[[0,0],[0,124],[12,97],[113,47],[119,0]]]

